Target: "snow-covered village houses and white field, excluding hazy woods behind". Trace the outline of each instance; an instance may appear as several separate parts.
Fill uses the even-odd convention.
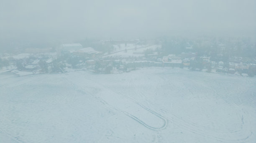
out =
[[[136,40],[101,40],[96,50],[79,43],[60,44],[54,48],[26,48],[18,54],[0,54],[0,72],[18,75],[67,73],[88,70],[100,74],[131,72],[145,67],[172,67],[200,72],[256,75],[256,57],[230,56],[219,52],[216,57],[202,56],[189,44],[180,54],[166,52],[163,42]],[[225,49],[224,44],[219,47]]]

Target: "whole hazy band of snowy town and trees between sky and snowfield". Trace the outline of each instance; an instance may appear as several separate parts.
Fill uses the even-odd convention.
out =
[[[162,40],[85,39],[56,47],[15,48],[14,52],[1,55],[1,72],[24,75],[89,70],[111,74],[146,67],[172,67],[254,76],[255,47],[255,43],[245,37],[228,40],[215,37],[196,40],[177,37]]]

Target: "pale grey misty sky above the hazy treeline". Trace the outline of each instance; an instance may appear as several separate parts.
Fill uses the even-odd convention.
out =
[[[256,35],[256,0],[1,0],[0,38]]]

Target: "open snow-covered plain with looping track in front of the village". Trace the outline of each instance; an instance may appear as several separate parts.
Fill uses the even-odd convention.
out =
[[[0,74],[0,143],[255,143],[256,78],[184,69]]]

